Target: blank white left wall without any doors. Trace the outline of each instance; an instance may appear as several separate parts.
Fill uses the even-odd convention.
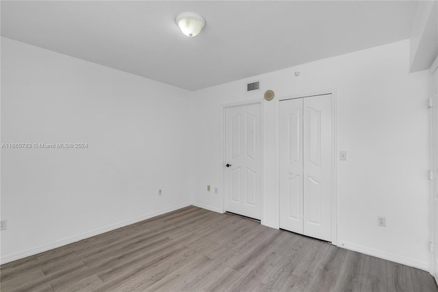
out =
[[[188,92],[1,38],[1,262],[188,206]],[[163,195],[157,191],[163,188]]]

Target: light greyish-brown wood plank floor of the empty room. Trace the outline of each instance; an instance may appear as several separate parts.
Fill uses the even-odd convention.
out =
[[[438,291],[426,271],[194,206],[0,268],[1,291]]]

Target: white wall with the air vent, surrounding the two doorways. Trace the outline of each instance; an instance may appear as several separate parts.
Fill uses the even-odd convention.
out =
[[[294,72],[300,76],[295,77]],[[221,210],[223,193],[222,106],[263,101],[264,214],[279,227],[277,112],[281,97],[337,90],[337,244],[365,254],[428,269],[428,72],[408,73],[409,40],[198,90],[194,204]],[[246,83],[261,90],[246,93]],[[206,186],[220,187],[220,194]],[[385,216],[387,227],[377,226]]]

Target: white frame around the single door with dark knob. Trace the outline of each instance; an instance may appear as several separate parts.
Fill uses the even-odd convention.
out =
[[[260,222],[263,224],[265,220],[265,209],[264,209],[264,178],[265,178],[265,167],[264,167],[264,149],[265,149],[265,138],[264,138],[264,121],[263,121],[263,102],[259,99],[250,99],[246,101],[237,101],[231,104],[222,104],[222,128],[221,128],[221,141],[220,146],[222,147],[222,198],[220,199],[220,212],[227,212],[227,169],[224,167],[226,162],[227,147],[225,145],[226,141],[226,130],[227,129],[227,109],[236,108],[239,106],[252,106],[253,104],[259,104],[260,106]]]

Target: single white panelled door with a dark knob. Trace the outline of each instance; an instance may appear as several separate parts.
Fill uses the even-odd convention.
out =
[[[260,104],[226,108],[225,124],[226,210],[261,219]]]

